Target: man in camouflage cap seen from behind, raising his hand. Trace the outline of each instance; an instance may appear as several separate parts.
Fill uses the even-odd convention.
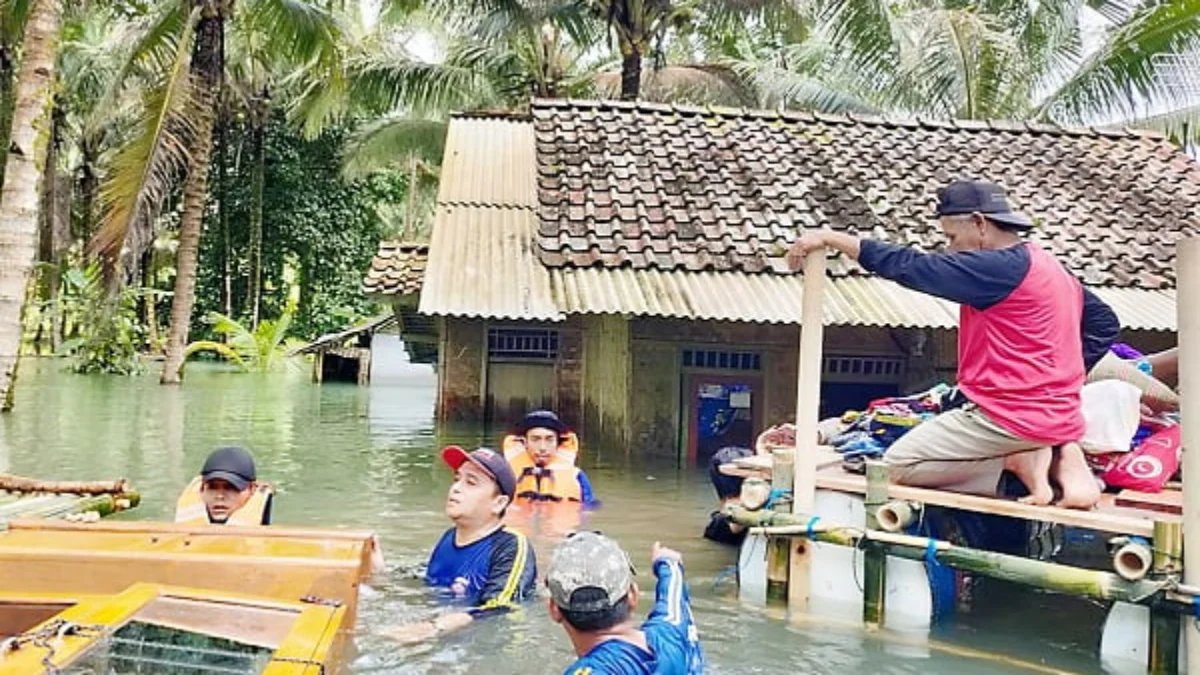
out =
[[[683,558],[654,543],[654,609],[636,626],[634,567],[612,539],[578,532],[554,550],[546,586],[550,616],[570,638],[578,659],[565,675],[698,675],[704,670],[692,621]]]

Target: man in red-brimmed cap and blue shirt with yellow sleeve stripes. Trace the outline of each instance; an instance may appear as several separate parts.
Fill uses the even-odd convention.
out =
[[[517,483],[504,455],[450,446],[442,459],[455,472],[445,508],[454,527],[433,548],[425,580],[445,589],[466,609],[385,633],[400,643],[418,643],[510,611],[535,592],[533,548],[524,534],[504,527]]]

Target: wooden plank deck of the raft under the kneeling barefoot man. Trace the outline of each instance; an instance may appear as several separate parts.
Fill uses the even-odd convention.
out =
[[[769,479],[770,464],[769,455],[756,455],[738,460],[733,465],[721,466],[721,473],[755,476]],[[841,458],[838,453],[823,450],[817,458],[817,489],[864,495],[866,494],[866,477],[846,473],[841,470]],[[1007,515],[1116,534],[1136,534],[1147,538],[1153,536],[1156,520],[1168,522],[1182,521],[1178,514],[1164,513],[1160,509],[1147,508],[1146,506],[1127,506],[1127,501],[1118,502],[1118,496],[1110,494],[1105,494],[1100,498],[1100,503],[1092,510],[1076,510],[1054,506],[1030,506],[1015,500],[980,497],[942,490],[908,488],[905,485],[889,485],[888,496],[893,500],[905,500],[929,506],[958,508],[992,515]]]

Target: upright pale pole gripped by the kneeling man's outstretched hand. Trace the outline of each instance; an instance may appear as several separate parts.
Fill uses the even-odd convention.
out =
[[[824,339],[824,249],[804,258],[804,295],[800,304],[800,357],[796,390],[796,456],[793,459],[792,509],[812,513],[817,490],[817,414],[821,405],[821,345]],[[811,545],[793,542],[787,604],[809,607]]]

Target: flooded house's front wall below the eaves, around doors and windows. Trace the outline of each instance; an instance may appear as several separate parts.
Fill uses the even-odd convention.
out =
[[[578,316],[558,324],[442,321],[438,357],[438,417],[482,422],[487,392],[487,328],[550,328],[558,331],[553,366],[553,406],[581,432],[595,453],[674,459],[686,441],[683,383],[685,348],[749,351],[761,356],[761,396],[756,424],[793,419],[799,328],[727,322],[686,322],[620,316]],[[1126,331],[1122,339],[1153,353],[1175,346],[1170,333]],[[955,330],[827,327],[824,356],[901,358],[905,370],[893,382],[901,393],[954,382]],[[520,370],[522,364],[505,364]],[[533,365],[545,372],[546,365]],[[530,369],[532,370],[532,369]],[[715,371],[702,371],[715,372]],[[520,381],[520,377],[514,378]],[[824,383],[841,381],[828,374]],[[870,377],[863,378],[869,382]],[[856,381],[857,382],[857,381]],[[506,392],[521,400],[518,392]],[[493,420],[510,424],[512,420]]]

